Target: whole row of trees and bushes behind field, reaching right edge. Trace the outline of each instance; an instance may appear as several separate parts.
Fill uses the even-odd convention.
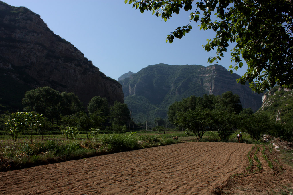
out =
[[[233,132],[246,132],[253,140],[263,134],[292,141],[292,125],[276,123],[263,112],[252,113],[242,109],[237,94],[225,92],[222,96],[190,96],[169,106],[168,119],[179,130],[193,132],[200,141],[207,130],[218,132],[222,141],[228,141]]]

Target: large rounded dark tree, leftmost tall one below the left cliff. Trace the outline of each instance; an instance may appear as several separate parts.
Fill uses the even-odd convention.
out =
[[[62,101],[60,93],[51,87],[38,87],[25,92],[22,104],[25,111],[35,111],[53,122],[59,120],[59,104]]]

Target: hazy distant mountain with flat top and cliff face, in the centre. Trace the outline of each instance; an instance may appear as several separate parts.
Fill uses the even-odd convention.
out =
[[[129,78],[120,80],[124,102],[132,110],[135,122],[167,118],[168,107],[191,95],[221,95],[232,91],[239,94],[243,108],[258,110],[262,94],[253,93],[248,84],[236,82],[240,78],[221,65],[149,65]]]

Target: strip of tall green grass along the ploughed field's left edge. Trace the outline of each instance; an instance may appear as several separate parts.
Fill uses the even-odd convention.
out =
[[[0,170],[13,170],[44,163],[86,158],[101,154],[130,151],[153,146],[174,144],[172,138],[134,134],[102,134],[93,139],[49,139],[33,144],[2,144]]]

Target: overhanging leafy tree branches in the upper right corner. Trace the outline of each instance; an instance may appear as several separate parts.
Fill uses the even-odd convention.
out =
[[[181,39],[191,31],[191,22],[199,22],[200,29],[216,32],[216,37],[203,46],[206,51],[216,49],[216,56],[208,59],[210,63],[221,60],[229,42],[236,43],[230,52],[231,62],[235,62],[230,71],[241,68],[245,61],[247,72],[237,80],[241,84],[247,81],[255,92],[264,92],[275,84],[293,87],[292,1],[125,0],[127,2],[141,13],[149,10],[164,21],[182,8],[190,11],[189,23],[168,34],[166,42]]]

